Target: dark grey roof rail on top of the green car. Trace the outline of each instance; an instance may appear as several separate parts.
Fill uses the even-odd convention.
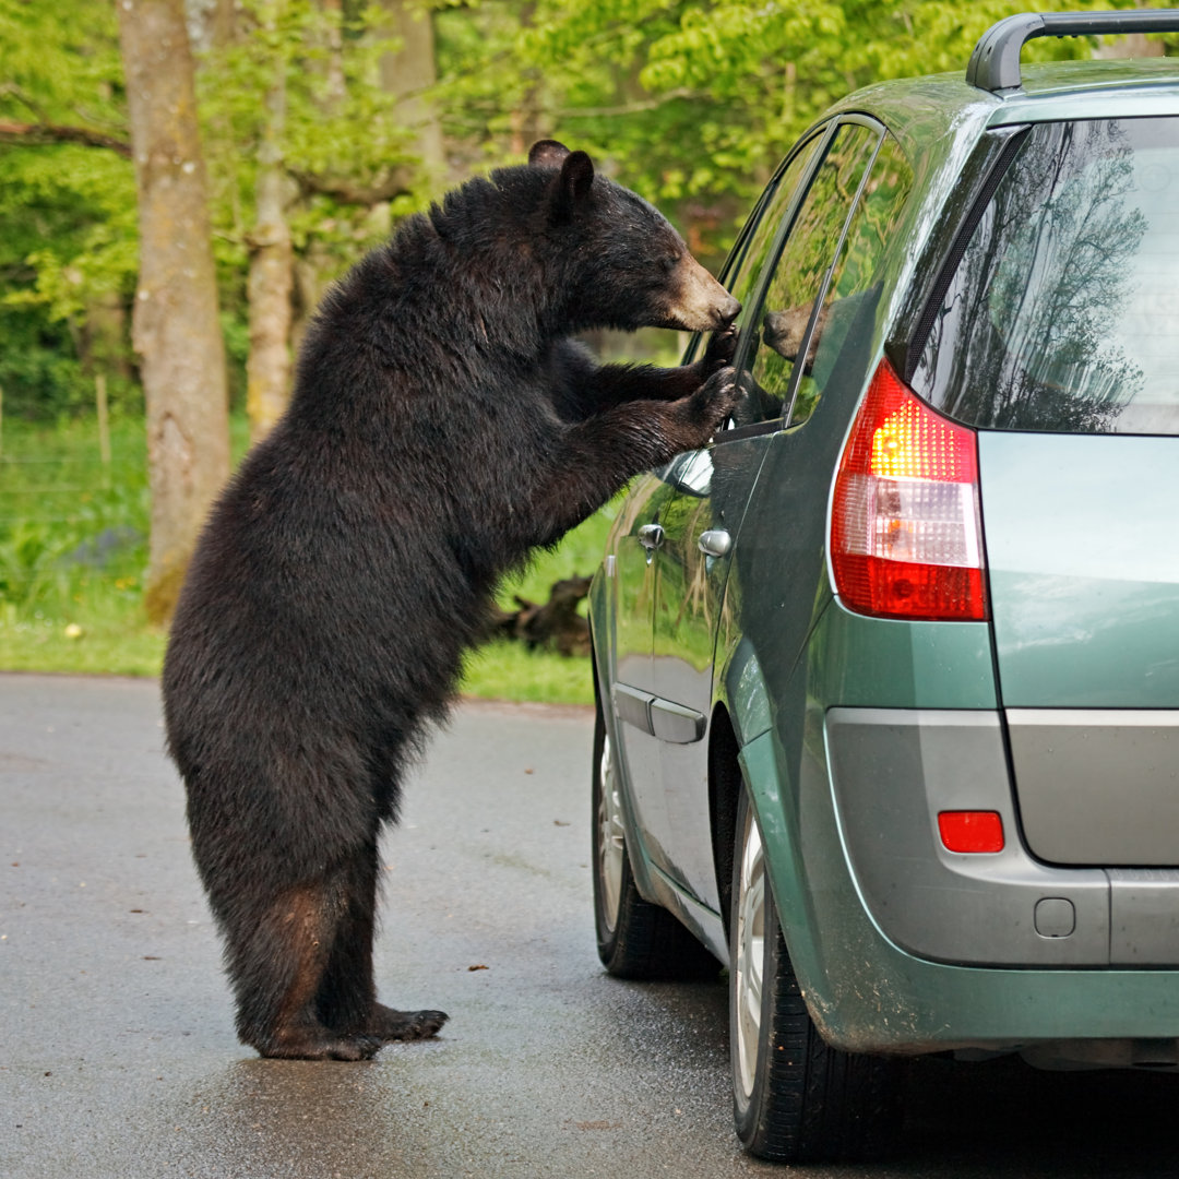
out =
[[[992,25],[974,47],[966,80],[993,94],[1019,90],[1020,51],[1033,37],[1093,37],[1098,33],[1179,33],[1179,8],[1119,12],[1025,12]]]

